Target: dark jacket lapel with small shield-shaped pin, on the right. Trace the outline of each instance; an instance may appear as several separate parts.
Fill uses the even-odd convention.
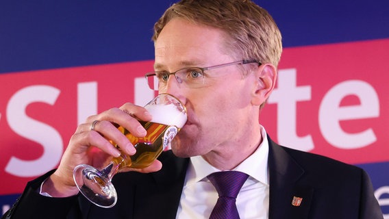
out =
[[[268,142],[269,218],[308,218],[314,190],[299,183],[304,175],[303,168],[282,146],[270,138]]]

